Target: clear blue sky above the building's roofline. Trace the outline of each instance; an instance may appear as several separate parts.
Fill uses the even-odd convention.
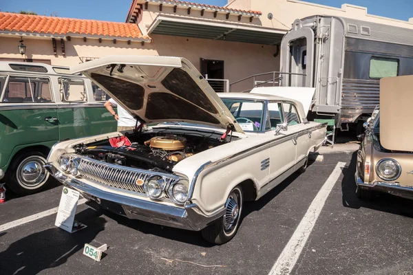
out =
[[[190,0],[193,2],[194,0]],[[277,1],[277,0],[266,0]],[[307,0],[340,8],[342,3],[361,5],[369,14],[407,21],[413,17],[413,0]],[[2,12],[30,10],[39,15],[125,22],[132,0],[0,0]],[[199,0],[197,3],[225,5],[227,0]],[[270,12],[270,11],[268,11]]]

